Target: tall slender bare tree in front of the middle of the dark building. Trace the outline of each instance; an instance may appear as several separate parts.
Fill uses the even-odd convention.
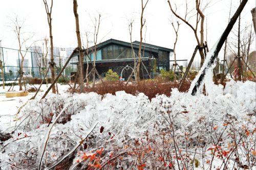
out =
[[[141,0],[141,15],[140,15],[140,44],[139,44],[139,52],[138,52],[138,63],[137,63],[137,68],[136,68],[136,78],[137,81],[140,81],[140,63],[141,63],[141,46],[142,46],[142,30],[145,25],[146,19],[143,17],[144,10],[146,8],[146,5],[148,3],[148,0],[146,0],[146,3],[143,3],[143,0]]]

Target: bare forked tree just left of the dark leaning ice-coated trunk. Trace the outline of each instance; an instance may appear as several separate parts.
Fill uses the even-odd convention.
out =
[[[193,17],[194,15],[191,15],[191,16],[188,16],[189,13],[191,13],[193,11],[192,10],[188,10],[188,3],[186,1],[186,10],[185,10],[185,15],[184,17],[182,17],[180,14],[177,13],[177,6],[176,4],[174,3],[174,5],[170,2],[170,0],[168,0],[168,4],[169,4],[169,7],[170,7],[170,10],[172,11],[172,13],[177,17],[179,18],[180,20],[182,20],[184,23],[186,23],[187,26],[189,26],[194,34],[195,34],[195,37],[196,37],[196,40],[197,40],[197,45],[199,46],[199,54],[201,56],[201,62],[200,62],[200,66],[202,67],[203,63],[204,63],[204,60],[205,60],[205,55],[204,55],[204,52],[203,52],[203,48],[204,48],[204,14],[203,14],[203,11],[207,8],[207,6],[209,5],[209,3],[207,2],[205,4],[204,7],[202,7],[202,1],[203,0],[196,0],[195,1],[195,6],[196,6],[196,25],[193,26],[191,23],[189,23],[189,19],[191,17]],[[173,1],[172,1],[173,2]],[[175,8],[174,8],[175,6]],[[200,26],[199,26],[199,23],[200,23]],[[200,27],[200,38],[199,38],[199,35],[198,35],[198,28]]]

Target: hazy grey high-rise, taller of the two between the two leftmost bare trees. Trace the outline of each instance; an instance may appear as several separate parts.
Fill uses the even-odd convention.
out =
[[[42,63],[42,50],[40,46],[31,46],[31,63],[32,63],[32,72],[34,77],[39,77],[41,75],[39,71],[44,67]]]

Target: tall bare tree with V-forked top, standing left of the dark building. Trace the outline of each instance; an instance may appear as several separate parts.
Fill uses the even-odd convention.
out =
[[[52,6],[53,6],[53,0],[51,1],[51,6],[48,5],[47,0],[42,0],[45,4],[46,14],[47,14],[47,21],[49,25],[49,33],[50,33],[50,44],[51,44],[51,74],[52,74],[52,80],[55,79],[55,73],[54,73],[54,58],[53,58],[53,36],[52,36]],[[52,92],[56,93],[55,86],[52,86]]]

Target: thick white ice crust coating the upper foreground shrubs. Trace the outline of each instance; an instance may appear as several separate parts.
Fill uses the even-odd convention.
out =
[[[87,135],[95,123],[98,124],[90,135],[90,139],[87,140],[89,147],[84,149],[87,153],[102,147],[106,151],[113,151],[113,148],[120,149],[124,145],[132,144],[135,139],[145,141],[145,134],[154,138],[154,142],[159,144],[162,142],[162,135],[159,134],[168,133],[167,120],[169,118],[176,128],[175,135],[179,136],[177,143],[181,148],[184,146],[182,137],[185,133],[189,133],[191,139],[200,138],[206,143],[210,142],[212,124],[219,126],[215,132],[220,134],[227,115],[236,119],[234,128],[239,130],[242,125],[246,125],[248,130],[253,131],[255,128],[253,113],[256,106],[256,94],[253,89],[255,89],[254,82],[231,81],[227,82],[224,90],[219,89],[219,93],[211,96],[201,93],[192,96],[190,93],[182,93],[173,89],[170,97],[158,95],[152,101],[148,100],[143,93],[131,95],[124,91],[118,91],[115,95],[106,94],[103,97],[93,92],[52,94],[41,103],[32,100],[26,109],[22,110],[20,115],[24,117],[20,117],[18,124],[26,123],[24,125],[30,128],[18,128],[13,133],[13,138],[3,142],[6,147],[5,152],[0,154],[0,159],[7,162],[11,160],[10,163],[12,163],[20,162],[24,160],[24,157],[33,155],[32,151],[35,152],[40,148],[48,127],[48,124],[39,124],[36,117],[50,112],[52,107],[56,108],[54,103],[65,104],[71,99],[77,103],[73,103],[73,106],[68,108],[68,112],[77,105],[85,104],[85,106],[71,115],[70,122],[64,125],[55,124],[53,127],[46,148],[48,157],[43,158],[44,161],[47,159],[47,163],[55,161],[70,151],[80,141],[80,136]],[[40,106],[43,109],[39,109]],[[34,113],[30,114],[31,111]],[[39,126],[35,126],[35,123]],[[102,133],[100,133],[101,127],[104,127]],[[29,137],[25,137],[26,135]],[[227,138],[223,139],[223,144],[231,141],[227,134],[225,136]],[[253,136],[250,137],[253,138]],[[194,149],[191,147],[190,151],[193,152]],[[36,158],[30,163],[35,163],[35,160]],[[8,169],[9,164],[4,164],[2,167]]]

